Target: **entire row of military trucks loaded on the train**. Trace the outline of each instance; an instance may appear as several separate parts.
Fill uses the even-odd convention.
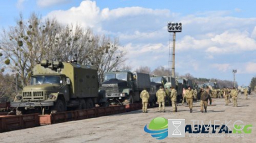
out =
[[[104,82],[99,88],[97,69],[94,66],[77,64],[76,61],[60,62],[43,60],[34,66],[31,84],[15,96],[11,107],[16,115],[28,111],[63,112],[67,109],[81,110],[114,104],[140,102],[141,91],[150,93],[149,103],[156,104],[156,91],[163,86],[178,92],[177,102],[182,100],[183,87],[192,86],[187,79],[152,76],[145,73],[123,71],[104,73]]]

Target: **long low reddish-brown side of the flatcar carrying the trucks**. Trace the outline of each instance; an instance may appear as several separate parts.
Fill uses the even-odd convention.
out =
[[[2,116],[0,115],[0,132],[113,115],[117,113],[141,110],[141,108],[142,103],[134,103],[127,104],[126,106],[99,107],[86,110],[52,113],[51,115],[39,115],[36,113],[21,116],[7,116],[6,113],[4,113]]]

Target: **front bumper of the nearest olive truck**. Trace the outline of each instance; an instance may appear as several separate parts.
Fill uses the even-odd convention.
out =
[[[11,102],[11,107],[41,107],[53,106],[53,102]]]

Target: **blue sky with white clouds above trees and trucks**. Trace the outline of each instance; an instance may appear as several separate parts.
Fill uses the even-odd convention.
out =
[[[22,12],[63,23],[80,23],[94,33],[118,37],[128,51],[127,65],[168,68],[167,23],[181,22],[176,33],[175,72],[249,85],[256,75],[254,0],[10,0],[0,1],[0,26],[15,25]],[[171,41],[172,48],[172,41]]]

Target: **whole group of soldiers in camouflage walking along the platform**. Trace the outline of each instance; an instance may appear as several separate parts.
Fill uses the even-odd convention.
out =
[[[224,87],[222,90],[210,90],[210,88],[207,86],[204,88],[201,88],[199,91],[199,94],[197,94],[196,90],[191,89],[190,86],[188,86],[187,89],[183,89],[183,100],[182,104],[184,104],[184,99],[187,101],[188,107],[189,107],[189,112],[192,113],[192,108],[193,108],[193,99],[197,100],[200,98],[200,111],[207,112],[207,105],[208,105],[208,100],[209,103],[212,104],[212,97],[214,98],[225,98],[225,105],[228,106],[230,99],[232,98],[233,100],[233,107],[237,107],[237,95],[238,95],[238,90],[233,87],[233,89],[229,89]],[[247,89],[244,91],[245,98],[247,99],[248,92]],[[215,96],[216,94],[216,96]],[[218,96],[217,96],[218,94]],[[197,96],[199,95],[199,96]],[[148,99],[150,95],[148,94],[147,90],[144,89],[141,92],[141,99],[142,99],[142,111],[144,113],[147,113],[147,105],[148,105]],[[168,98],[167,98],[168,97]],[[173,110],[172,112],[177,112],[177,91],[174,87],[170,87],[170,90],[166,89],[164,90],[163,86],[160,86],[159,90],[156,92],[156,98],[158,99],[157,102],[159,104],[159,112],[165,112],[165,103],[166,99],[171,100]]]

